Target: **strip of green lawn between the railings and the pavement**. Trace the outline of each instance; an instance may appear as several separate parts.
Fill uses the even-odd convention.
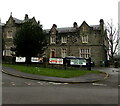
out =
[[[89,70],[63,70],[63,69],[53,69],[53,68],[42,68],[42,67],[35,67],[35,66],[25,66],[25,65],[11,65],[11,64],[3,64],[3,66],[11,67],[17,69],[18,71],[37,74],[37,75],[44,75],[44,76],[52,76],[52,77],[61,77],[61,78],[70,78],[70,77],[77,77],[81,75],[85,75],[88,73],[96,73],[99,74],[99,71],[89,71]]]

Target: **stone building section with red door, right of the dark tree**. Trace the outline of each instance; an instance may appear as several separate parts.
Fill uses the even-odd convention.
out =
[[[95,65],[100,65],[100,61],[107,60],[103,19],[100,20],[99,25],[91,26],[85,21],[79,27],[76,22],[73,23],[73,27],[66,28],[57,28],[57,25],[53,24],[46,33],[49,37],[49,47],[45,55],[48,58],[75,56],[87,59],[91,57]]]

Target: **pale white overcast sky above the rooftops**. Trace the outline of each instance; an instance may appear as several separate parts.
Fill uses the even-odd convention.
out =
[[[118,1],[120,0],[1,0],[0,18],[6,23],[10,13],[23,20],[25,14],[40,20],[43,29],[49,29],[53,24],[57,27],[72,27],[73,22],[78,26],[85,20],[89,25],[113,20],[118,24]]]

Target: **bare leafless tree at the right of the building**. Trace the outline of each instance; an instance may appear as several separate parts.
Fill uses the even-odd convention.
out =
[[[106,26],[106,31],[107,31],[107,42],[108,42],[108,55],[110,59],[110,63],[113,65],[114,64],[114,56],[118,52],[118,44],[120,40],[119,36],[119,26],[118,29],[114,27],[113,22],[107,23]]]

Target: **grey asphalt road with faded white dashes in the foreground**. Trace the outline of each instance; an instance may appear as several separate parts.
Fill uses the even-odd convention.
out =
[[[3,104],[118,104],[117,72],[96,83],[53,83],[2,74]],[[113,83],[114,82],[114,83]]]

